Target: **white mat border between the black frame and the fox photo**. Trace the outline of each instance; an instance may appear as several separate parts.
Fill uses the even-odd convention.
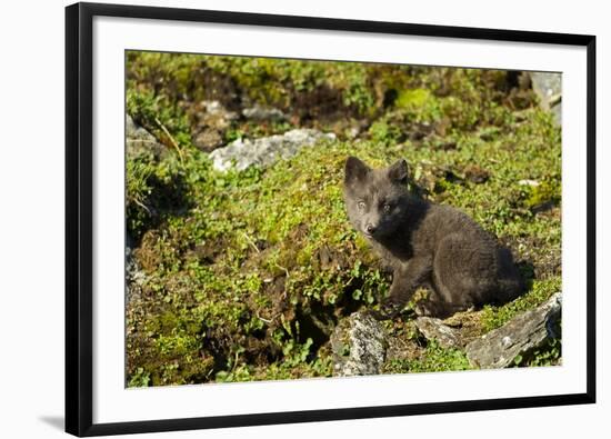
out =
[[[579,393],[585,389],[585,50],[96,18],[93,422]],[[124,49],[562,71],[561,368],[124,389]],[[460,376],[458,376],[460,375]],[[321,400],[320,395],[324,393]]]

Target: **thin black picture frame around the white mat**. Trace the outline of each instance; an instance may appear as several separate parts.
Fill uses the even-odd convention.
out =
[[[118,423],[92,421],[92,20],[96,16],[227,24],[445,37],[587,48],[587,391],[537,396],[269,412]],[[221,427],[381,418],[595,402],[595,37],[121,4],[66,9],[66,431],[99,436]]]

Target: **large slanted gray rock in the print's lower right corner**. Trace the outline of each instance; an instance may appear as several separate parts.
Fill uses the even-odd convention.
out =
[[[494,329],[467,345],[467,358],[471,366],[482,369],[511,366],[518,356],[539,348],[554,333],[560,318],[562,295],[557,292],[540,307],[527,311],[501,328]]]

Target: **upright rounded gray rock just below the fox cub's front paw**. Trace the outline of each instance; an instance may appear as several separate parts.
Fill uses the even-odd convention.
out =
[[[331,335],[333,373],[339,377],[380,373],[387,346],[387,333],[378,320],[364,312],[352,313]]]

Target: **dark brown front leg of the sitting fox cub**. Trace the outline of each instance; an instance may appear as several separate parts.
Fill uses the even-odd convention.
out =
[[[374,312],[375,317],[381,320],[394,318],[412,298],[418,287],[430,279],[431,272],[431,258],[413,258],[407,265],[395,268],[389,297],[382,301],[380,312]]]

